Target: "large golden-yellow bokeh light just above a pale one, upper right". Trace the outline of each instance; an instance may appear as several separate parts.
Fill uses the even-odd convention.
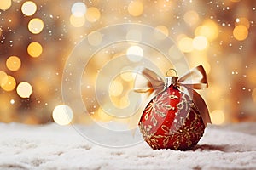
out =
[[[218,37],[218,25],[212,20],[205,20],[203,25],[195,29],[195,36],[207,37],[208,41],[213,41]]]

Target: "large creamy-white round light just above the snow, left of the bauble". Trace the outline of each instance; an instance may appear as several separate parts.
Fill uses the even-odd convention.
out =
[[[67,125],[73,120],[73,111],[68,105],[57,105],[52,112],[52,118],[59,125]]]

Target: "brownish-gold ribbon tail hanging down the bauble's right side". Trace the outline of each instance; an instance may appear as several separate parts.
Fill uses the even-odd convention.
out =
[[[193,102],[195,103],[195,106],[197,107],[198,111],[200,112],[201,118],[202,118],[205,126],[207,126],[207,123],[212,123],[209,111],[207,109],[207,104],[204,101],[204,99],[202,99],[200,94],[195,92],[195,90],[191,90],[191,91],[193,93]]]

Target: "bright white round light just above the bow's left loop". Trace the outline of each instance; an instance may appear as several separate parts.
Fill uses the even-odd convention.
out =
[[[138,62],[141,59],[143,59],[143,55],[144,55],[143,48],[139,46],[131,46],[130,48],[127,49],[126,55],[128,59],[131,60],[132,62]]]

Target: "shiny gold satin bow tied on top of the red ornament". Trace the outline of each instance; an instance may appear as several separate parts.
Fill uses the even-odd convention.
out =
[[[166,80],[168,80],[168,78]],[[139,71],[139,74],[137,74],[134,91],[137,93],[149,92],[150,96],[154,97],[164,91],[166,86],[168,87],[169,85],[170,84],[168,84],[168,82],[165,82],[165,79],[158,76],[154,71],[143,68],[141,71]],[[201,95],[194,90],[208,87],[207,74],[204,68],[201,65],[195,67],[182,77],[177,78],[175,85],[184,93],[193,98],[193,102],[198,108],[205,126],[208,122],[211,123],[209,111],[205,101],[201,98]]]

